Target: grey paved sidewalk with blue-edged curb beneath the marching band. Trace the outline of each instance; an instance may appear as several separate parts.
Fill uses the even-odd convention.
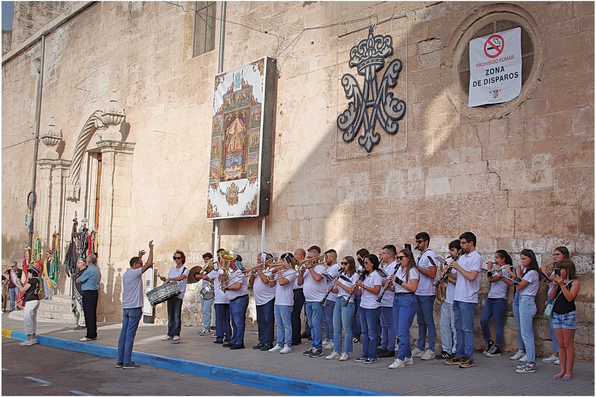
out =
[[[98,339],[94,342],[72,342],[85,336],[84,331],[73,331],[75,324],[38,323],[38,334],[49,337],[45,343],[48,345],[107,355],[100,351],[117,348],[121,327],[114,323],[98,325]],[[23,323],[2,315],[2,329],[22,330]],[[252,346],[258,343],[257,336],[246,332],[246,349],[230,350],[213,343],[215,338],[197,335],[197,330],[182,327],[180,340],[162,341],[167,326],[142,324],[136,333],[133,360],[142,362],[138,360],[138,354],[144,354],[146,360],[147,357],[158,357],[147,364],[164,367],[160,362],[169,360],[171,367],[168,369],[182,372],[203,365],[207,372],[202,376],[228,376],[227,380],[234,383],[295,395],[321,394],[327,390],[325,394],[329,395],[365,395],[368,391],[370,395],[593,396],[595,391],[591,379],[594,377],[593,363],[575,362],[575,377],[570,382],[551,379],[558,372],[558,365],[547,364],[540,359],[536,373],[519,374],[515,371],[519,362],[511,361],[510,356],[488,358],[476,351],[476,367],[464,369],[457,365],[445,365],[442,360],[421,361],[420,358],[414,358],[414,365],[390,370],[387,365],[393,362],[392,358],[381,358],[371,365],[354,362],[353,358],[359,357],[362,352],[361,345],[354,345],[354,354],[350,355],[349,361],[325,360],[325,355],[330,354],[331,350],[325,350],[325,355],[316,358],[302,355],[310,347],[306,340],[300,346],[292,346],[293,352],[290,354],[271,353],[253,350]],[[331,388],[325,389],[325,385]],[[322,388],[316,389],[315,386]]]

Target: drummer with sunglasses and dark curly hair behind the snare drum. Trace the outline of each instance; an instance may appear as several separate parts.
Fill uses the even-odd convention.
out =
[[[167,299],[167,335],[162,340],[180,339],[180,329],[182,327],[182,298],[186,292],[188,269],[184,267],[186,256],[179,249],[174,252],[173,260],[175,266],[170,268],[167,277],[159,276],[164,283],[175,281],[178,283],[180,293]]]

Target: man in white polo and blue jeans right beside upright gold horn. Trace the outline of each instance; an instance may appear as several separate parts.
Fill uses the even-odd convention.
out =
[[[240,255],[229,265],[228,280],[222,283],[226,287],[225,297],[229,299],[229,314],[232,320],[232,340],[223,345],[231,350],[244,349],[244,328],[246,310],[249,307],[248,279],[243,277],[242,257]]]

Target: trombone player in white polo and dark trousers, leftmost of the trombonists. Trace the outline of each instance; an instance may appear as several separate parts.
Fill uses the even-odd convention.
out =
[[[253,346],[253,349],[260,349],[262,351],[269,351],[273,348],[273,329],[275,324],[275,287],[269,287],[269,280],[272,271],[266,272],[263,267],[263,262],[271,260],[272,255],[266,252],[261,252],[257,255],[257,264],[260,267],[256,268],[256,274],[250,276],[250,283],[253,285],[254,303],[257,308],[257,325],[259,326],[259,343]]]

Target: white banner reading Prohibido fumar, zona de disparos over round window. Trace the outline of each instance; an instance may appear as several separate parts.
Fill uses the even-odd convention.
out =
[[[511,101],[521,90],[521,27],[470,41],[468,107]]]

